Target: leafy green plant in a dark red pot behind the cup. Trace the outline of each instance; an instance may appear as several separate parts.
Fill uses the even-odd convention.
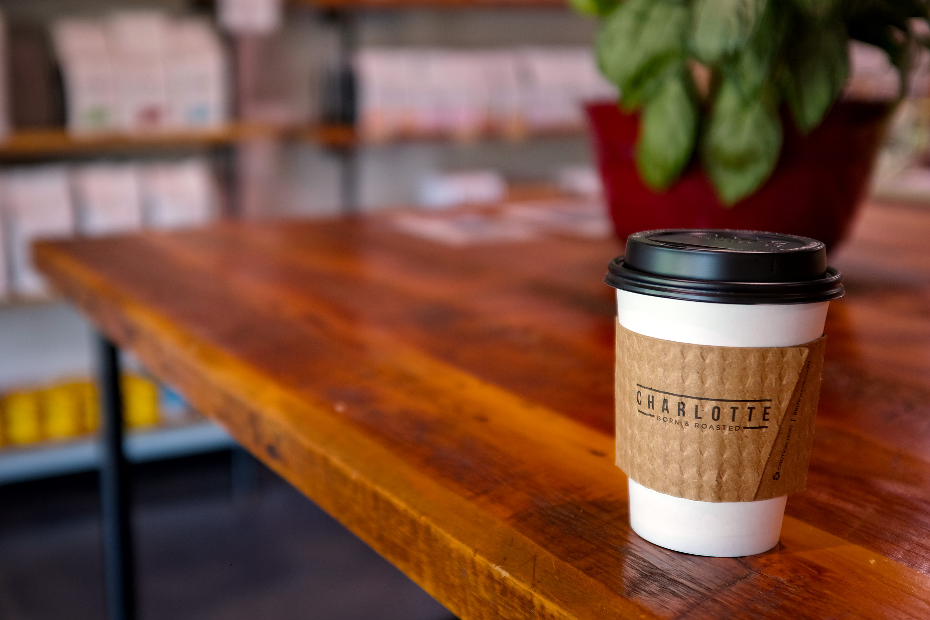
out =
[[[842,100],[851,39],[904,93],[926,0],[572,0],[619,106],[589,118],[621,238],[668,227],[790,232],[836,244],[894,101]]]

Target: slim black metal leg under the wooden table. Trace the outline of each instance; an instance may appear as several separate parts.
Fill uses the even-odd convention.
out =
[[[123,393],[119,351],[98,335],[100,387],[100,495],[103,560],[110,620],[135,620],[136,584],[129,522],[129,485],[123,455]]]

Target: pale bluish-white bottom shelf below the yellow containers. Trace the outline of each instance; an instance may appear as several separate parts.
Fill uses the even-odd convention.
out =
[[[212,422],[138,429],[126,438],[126,457],[133,463],[203,454],[232,448],[233,439]],[[35,480],[96,469],[96,436],[68,442],[42,442],[0,448],[0,484]]]

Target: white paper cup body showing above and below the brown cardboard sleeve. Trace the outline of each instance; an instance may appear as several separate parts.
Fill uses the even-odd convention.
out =
[[[617,314],[631,332],[712,347],[792,347],[823,334],[829,301],[743,305],[617,291]],[[775,547],[787,495],[758,502],[698,502],[630,479],[630,525],[651,543],[700,556],[737,557]]]

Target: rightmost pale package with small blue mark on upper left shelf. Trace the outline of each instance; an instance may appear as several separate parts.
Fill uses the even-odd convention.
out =
[[[227,120],[226,59],[204,20],[178,20],[168,30],[168,125],[216,128]]]

